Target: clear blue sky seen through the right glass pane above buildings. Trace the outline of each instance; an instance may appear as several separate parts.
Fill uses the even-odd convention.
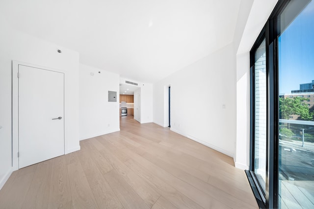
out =
[[[279,37],[279,93],[314,80],[314,0]]]

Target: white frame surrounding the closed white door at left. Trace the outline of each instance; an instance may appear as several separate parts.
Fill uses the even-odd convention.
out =
[[[49,67],[43,67],[35,64],[29,64],[26,62],[12,60],[12,169],[13,171],[19,169],[19,65],[25,65],[28,67],[39,68],[43,70],[54,71],[57,73],[63,73],[65,71],[52,69]],[[65,104],[64,104],[65,105]],[[64,108],[65,115],[65,108]],[[63,129],[65,131],[65,125],[63,124]],[[64,142],[65,142],[64,138]],[[65,143],[64,143],[65,147]]]

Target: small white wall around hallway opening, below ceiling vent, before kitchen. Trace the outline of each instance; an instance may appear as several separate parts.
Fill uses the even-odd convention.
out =
[[[142,83],[129,78],[120,78],[120,83],[130,85],[126,83],[126,80],[135,82],[140,87],[141,91],[141,113],[140,123],[152,123],[153,122],[153,84]]]

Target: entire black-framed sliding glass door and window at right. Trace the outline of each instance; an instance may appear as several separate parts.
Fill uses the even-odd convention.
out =
[[[261,208],[314,208],[314,0],[279,0],[251,52],[251,160]]]

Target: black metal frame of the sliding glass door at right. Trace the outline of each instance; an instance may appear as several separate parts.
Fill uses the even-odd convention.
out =
[[[250,51],[250,166],[246,171],[260,208],[278,208],[278,18],[290,0],[279,0]],[[266,191],[261,192],[254,175],[255,51],[266,40]]]

